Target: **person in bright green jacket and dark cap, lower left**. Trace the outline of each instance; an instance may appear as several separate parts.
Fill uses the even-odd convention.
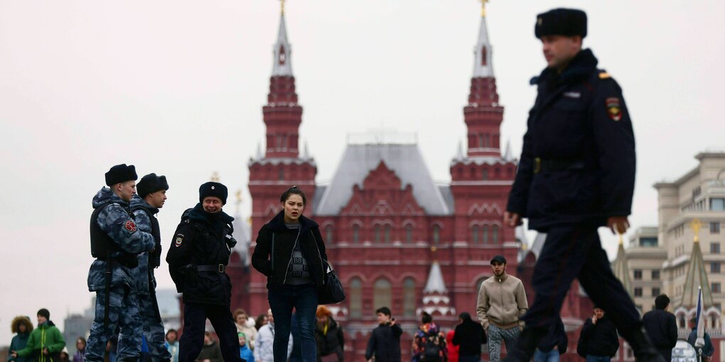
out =
[[[56,362],[64,347],[63,335],[50,321],[50,312],[42,308],[38,311],[38,327],[30,333],[28,345],[22,350],[11,350],[10,354],[13,358],[29,357],[26,361]]]

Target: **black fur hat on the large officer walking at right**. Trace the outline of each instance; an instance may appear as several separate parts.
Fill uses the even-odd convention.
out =
[[[587,13],[579,9],[552,9],[537,15],[537,38],[544,35],[587,36]]]

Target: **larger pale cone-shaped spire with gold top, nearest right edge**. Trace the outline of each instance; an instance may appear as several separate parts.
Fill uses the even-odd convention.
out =
[[[702,223],[698,219],[694,219],[690,223],[695,237],[693,237],[692,255],[689,258],[687,278],[684,280],[684,292],[682,293],[682,306],[685,308],[697,307],[700,287],[703,288],[703,306],[705,308],[713,306],[713,294],[710,290],[708,273],[705,271],[703,251],[700,250],[700,236],[698,234],[700,233],[701,226]]]

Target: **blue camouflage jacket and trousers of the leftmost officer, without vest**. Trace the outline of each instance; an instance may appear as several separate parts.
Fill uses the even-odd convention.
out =
[[[129,214],[128,203],[109,188],[101,188],[96,193],[93,206],[94,209],[104,207],[97,223],[123,251],[135,254],[154,248],[154,237],[148,232],[137,230]],[[115,252],[111,257],[120,255]],[[88,271],[88,290],[96,292],[96,317],[91,326],[84,359],[89,362],[104,361],[106,342],[119,327],[117,361],[136,361],[141,352],[141,318],[138,314],[136,285],[131,270],[114,261],[110,288],[106,290],[107,262],[96,259]],[[106,298],[109,298],[108,324],[104,321]]]

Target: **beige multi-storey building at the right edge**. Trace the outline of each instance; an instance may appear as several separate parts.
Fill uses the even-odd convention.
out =
[[[658,227],[639,228],[629,248],[620,247],[613,267],[642,313],[653,308],[658,294],[670,297],[681,337],[695,316],[702,287],[705,326],[714,337],[722,335],[725,303],[725,152],[695,158],[699,164],[684,176],[654,185]]]

